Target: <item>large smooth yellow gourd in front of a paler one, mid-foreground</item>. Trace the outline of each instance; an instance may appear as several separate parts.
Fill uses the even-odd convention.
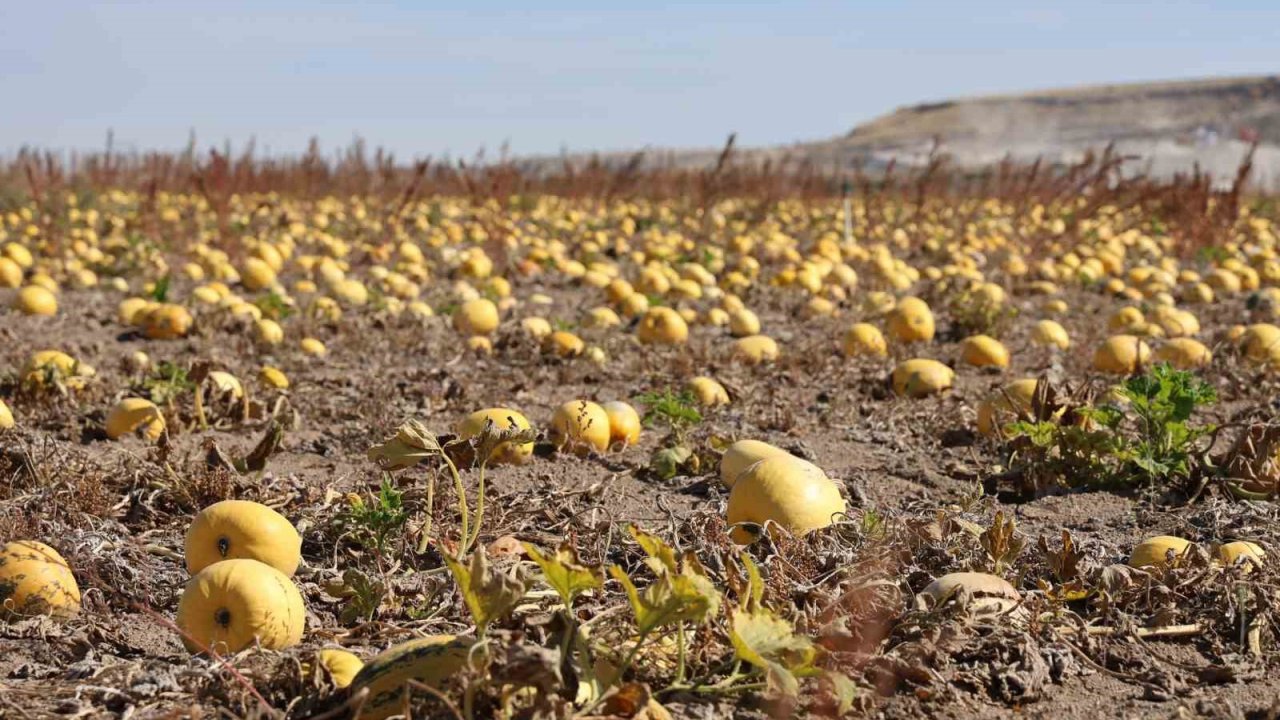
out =
[[[751,465],[737,477],[728,496],[727,520],[733,542],[756,539],[753,529],[739,525],[776,525],[795,536],[826,528],[846,510],[827,474],[813,462],[791,455],[774,455]]]

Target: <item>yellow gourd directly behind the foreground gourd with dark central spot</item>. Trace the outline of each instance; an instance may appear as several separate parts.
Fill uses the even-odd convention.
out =
[[[232,559],[250,559],[292,575],[302,561],[302,537],[270,507],[248,500],[224,500],[196,514],[184,543],[187,571]]]

